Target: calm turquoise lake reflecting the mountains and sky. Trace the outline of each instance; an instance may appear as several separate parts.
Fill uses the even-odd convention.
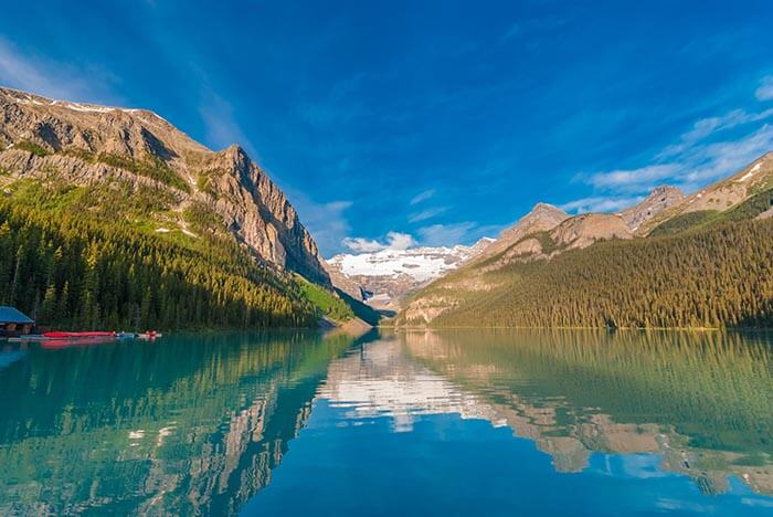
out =
[[[0,515],[773,514],[773,336],[0,341]]]

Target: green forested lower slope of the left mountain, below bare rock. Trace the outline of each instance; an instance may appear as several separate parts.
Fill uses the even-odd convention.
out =
[[[315,326],[330,307],[353,317],[332,292],[311,296],[305,281],[256,264],[205,207],[190,205],[180,228],[172,201],[117,180],[8,183],[0,304],[72,329]]]

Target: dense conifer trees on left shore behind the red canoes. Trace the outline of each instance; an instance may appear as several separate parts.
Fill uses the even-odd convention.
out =
[[[0,302],[72,329],[311,326],[297,283],[234,242],[189,249],[0,200]]]

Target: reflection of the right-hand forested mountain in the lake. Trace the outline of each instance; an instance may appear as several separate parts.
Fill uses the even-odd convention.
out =
[[[705,493],[737,476],[773,494],[769,337],[719,333],[490,331],[400,337],[411,357],[580,472],[592,452],[656,453]],[[469,395],[472,397],[472,395]]]

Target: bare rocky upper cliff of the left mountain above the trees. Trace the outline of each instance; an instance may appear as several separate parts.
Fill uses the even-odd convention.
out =
[[[242,148],[211,151],[151,112],[0,88],[0,169],[11,181],[55,175],[161,189],[172,212],[195,204],[216,213],[260,261],[330,283],[295,209]]]

